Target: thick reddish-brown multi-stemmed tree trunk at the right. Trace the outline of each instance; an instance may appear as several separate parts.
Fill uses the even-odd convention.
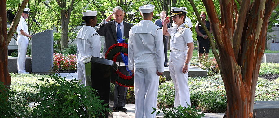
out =
[[[236,1],[219,1],[221,21],[213,1],[202,1],[219,49],[220,73],[227,94],[225,117],[252,118],[268,21],[279,0],[255,0],[252,4],[242,0],[238,11]]]

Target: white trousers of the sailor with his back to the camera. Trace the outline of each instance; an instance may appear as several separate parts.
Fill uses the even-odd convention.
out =
[[[157,68],[135,68],[135,118],[155,118],[159,76]]]

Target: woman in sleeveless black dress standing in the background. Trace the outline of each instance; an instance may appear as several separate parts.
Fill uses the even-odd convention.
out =
[[[201,11],[201,20],[204,25],[206,25],[209,33],[211,33],[211,27],[209,21],[206,21],[206,13],[204,11]],[[198,45],[198,54],[199,54],[199,59],[202,56],[202,54],[205,54],[204,56],[208,57],[209,53],[209,38],[206,35],[206,32],[204,29],[201,27],[200,23],[196,23],[196,32],[197,32],[197,45]],[[201,64],[199,63],[199,66]]]

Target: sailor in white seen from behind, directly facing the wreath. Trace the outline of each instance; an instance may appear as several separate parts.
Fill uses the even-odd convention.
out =
[[[139,7],[143,20],[129,32],[129,70],[135,74],[135,117],[155,118],[151,114],[156,108],[159,76],[164,71],[163,33],[151,20],[154,5]]]

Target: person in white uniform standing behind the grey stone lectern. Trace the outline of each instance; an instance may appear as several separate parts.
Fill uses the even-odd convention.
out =
[[[17,53],[17,72],[20,74],[29,74],[29,72],[25,71],[25,60],[26,60],[26,52],[28,46],[28,37],[32,38],[32,35],[29,35],[28,26],[25,19],[28,18],[30,14],[30,9],[25,8],[20,18],[20,22],[16,28],[17,39],[16,44],[18,47]]]

